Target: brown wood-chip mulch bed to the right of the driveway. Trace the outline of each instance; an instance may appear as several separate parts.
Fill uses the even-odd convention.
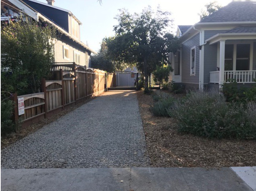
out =
[[[210,140],[180,134],[173,118],[156,117],[151,95],[137,92],[151,167],[220,168],[256,165],[256,141]]]

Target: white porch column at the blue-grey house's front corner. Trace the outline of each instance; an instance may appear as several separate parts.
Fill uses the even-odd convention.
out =
[[[219,89],[224,83],[224,69],[225,69],[225,40],[219,41]]]

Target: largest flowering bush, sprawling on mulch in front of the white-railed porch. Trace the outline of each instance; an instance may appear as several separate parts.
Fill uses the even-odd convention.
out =
[[[190,92],[175,111],[180,132],[208,138],[256,139],[255,103],[227,103],[218,92],[197,91]]]

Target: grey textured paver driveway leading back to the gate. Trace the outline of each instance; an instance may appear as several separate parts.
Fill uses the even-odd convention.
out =
[[[135,91],[109,91],[1,151],[2,168],[146,167]]]

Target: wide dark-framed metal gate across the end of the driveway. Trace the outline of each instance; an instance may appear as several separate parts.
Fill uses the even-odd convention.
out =
[[[108,73],[106,77],[106,90],[137,89],[140,76],[139,73],[133,72]]]

